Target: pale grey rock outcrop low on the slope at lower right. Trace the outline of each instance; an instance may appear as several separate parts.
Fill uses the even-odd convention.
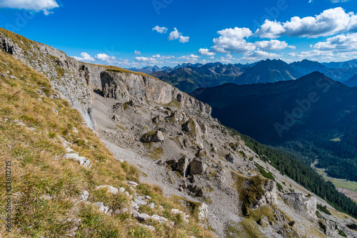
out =
[[[308,216],[316,218],[316,197],[306,197],[303,194],[288,193],[283,194],[282,198],[291,204],[296,211],[305,212]]]

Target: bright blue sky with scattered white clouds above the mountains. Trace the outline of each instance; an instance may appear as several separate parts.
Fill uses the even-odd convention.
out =
[[[357,58],[357,0],[0,0],[0,11],[5,29],[124,68]]]

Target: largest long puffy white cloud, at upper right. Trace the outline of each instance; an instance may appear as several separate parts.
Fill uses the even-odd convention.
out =
[[[266,19],[261,28],[256,30],[255,35],[270,39],[281,36],[316,38],[356,30],[357,15],[336,7],[327,9],[317,16],[307,16],[302,19],[294,16],[290,21],[283,23]]]

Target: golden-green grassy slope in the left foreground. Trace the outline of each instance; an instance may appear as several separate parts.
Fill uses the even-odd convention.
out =
[[[6,73],[9,71],[9,74]],[[174,229],[153,221],[146,222],[156,232],[139,227],[128,214],[107,216],[84,203],[74,204],[86,189],[89,202],[104,202],[111,209],[127,207],[125,195],[109,195],[95,191],[96,186],[109,184],[126,187],[127,180],[138,182],[138,170],[120,163],[111,155],[91,130],[82,126],[78,111],[63,99],[51,99],[54,94],[49,79],[13,56],[0,52],[0,179],[5,179],[5,162],[11,161],[12,206],[14,227],[11,234],[4,229],[6,207],[5,184],[0,184],[0,237],[65,237],[76,227],[69,218],[81,218],[76,237],[211,237],[193,218],[189,224],[172,215],[171,208],[184,210],[177,198],[166,198],[159,187],[140,184],[139,194],[149,194],[164,211],[142,207],[141,212],[159,214],[175,222]],[[11,78],[15,76],[16,78]],[[36,89],[44,91],[39,101]],[[54,109],[58,111],[55,113]],[[26,124],[16,124],[19,120]],[[34,130],[29,128],[33,127]],[[73,132],[73,128],[79,134]],[[63,159],[65,154],[58,137],[64,137],[80,156],[87,157],[93,167],[85,169],[76,162]],[[52,199],[41,199],[49,194]],[[192,216],[191,216],[192,217]]]

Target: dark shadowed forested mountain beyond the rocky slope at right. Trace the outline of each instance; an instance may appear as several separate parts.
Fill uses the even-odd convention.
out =
[[[274,84],[197,89],[191,96],[211,105],[228,127],[357,181],[357,87],[315,71]]]

